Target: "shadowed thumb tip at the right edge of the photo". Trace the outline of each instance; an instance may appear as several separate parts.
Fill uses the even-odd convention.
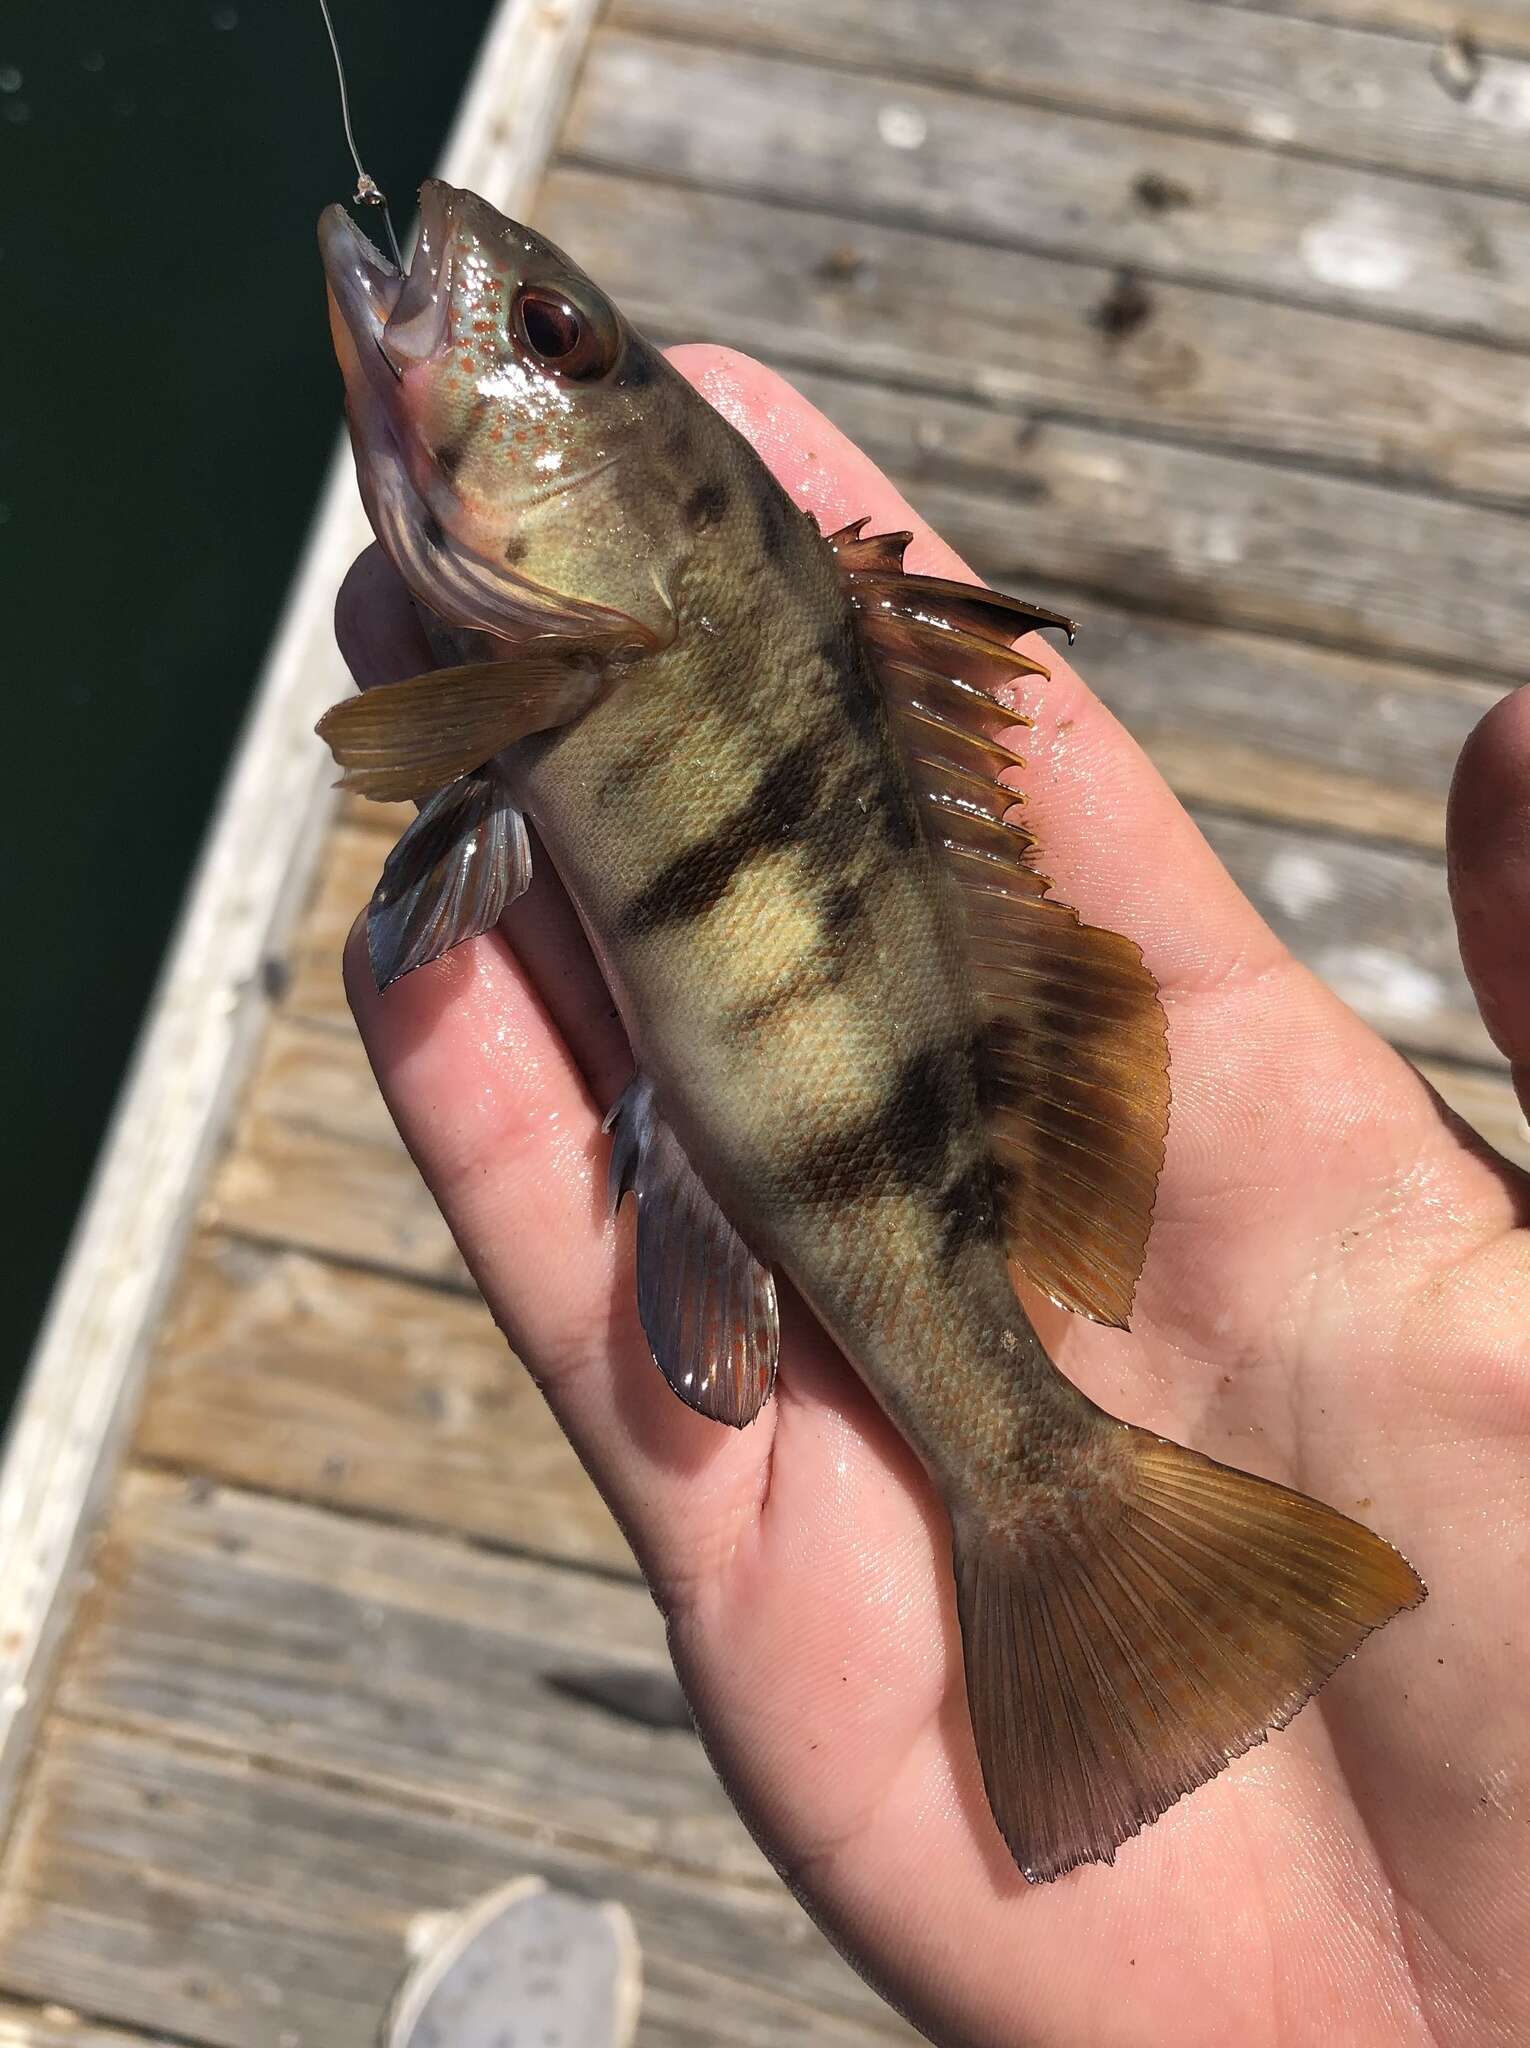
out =
[[[1446,817],[1450,901],[1483,1022],[1530,1069],[1530,688],[1493,705],[1462,748]]]

